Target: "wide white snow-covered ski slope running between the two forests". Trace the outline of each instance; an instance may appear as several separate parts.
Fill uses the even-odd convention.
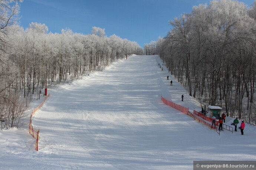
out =
[[[157,55],[133,55],[48,89],[50,98],[33,116],[39,152],[28,125],[0,130],[0,169],[192,170],[194,160],[256,160],[255,126],[246,124],[244,135],[224,130],[219,136],[165,105],[161,95],[191,112],[201,110],[158,64],[163,66]]]

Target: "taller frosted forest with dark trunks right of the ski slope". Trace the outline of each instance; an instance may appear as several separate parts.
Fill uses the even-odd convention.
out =
[[[144,45],[202,106],[256,124],[256,1],[213,0],[169,21],[166,37]]]

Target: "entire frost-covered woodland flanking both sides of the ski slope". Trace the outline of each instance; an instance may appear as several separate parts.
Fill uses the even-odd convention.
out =
[[[51,33],[45,24],[19,26],[22,0],[0,0],[0,122],[19,127],[29,103],[44,88],[101,71],[131,54],[159,54],[190,96],[218,105],[227,116],[256,124],[256,1],[247,7],[213,0],[170,20],[165,37],[141,48],[105,29],[91,34],[69,28]]]

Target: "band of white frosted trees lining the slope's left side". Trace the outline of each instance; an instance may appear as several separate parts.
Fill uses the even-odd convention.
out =
[[[0,121],[1,127],[19,127],[29,103],[44,88],[67,79],[102,70],[116,59],[143,54],[136,43],[105,29],[92,27],[91,34],[65,28],[48,33],[45,24],[19,26],[22,0],[0,0]],[[36,96],[36,97],[35,97]]]

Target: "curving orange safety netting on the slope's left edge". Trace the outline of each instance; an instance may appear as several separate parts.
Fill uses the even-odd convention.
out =
[[[48,94],[45,99],[43,100],[43,102],[37,106],[37,108],[35,108],[31,115],[30,115],[30,122],[29,122],[29,133],[36,139],[36,150],[38,151],[38,140],[40,139],[39,137],[39,129],[35,129],[32,126],[32,116],[36,113],[37,110],[39,110],[43,104],[45,103],[46,99],[50,97],[50,94]]]

